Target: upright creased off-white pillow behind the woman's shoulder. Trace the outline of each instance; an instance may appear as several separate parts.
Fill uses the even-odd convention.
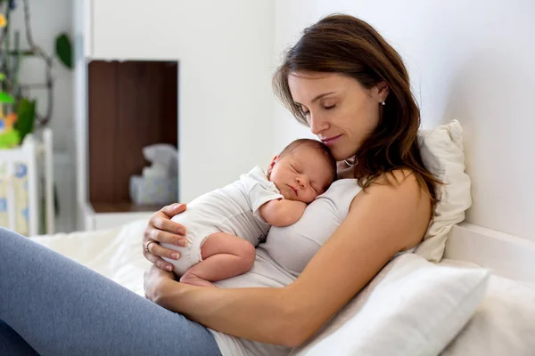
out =
[[[449,231],[465,220],[465,211],[472,205],[470,177],[465,174],[463,128],[453,120],[431,132],[422,130],[418,133],[418,143],[424,166],[445,184],[437,186],[439,202],[416,254],[440,262]]]

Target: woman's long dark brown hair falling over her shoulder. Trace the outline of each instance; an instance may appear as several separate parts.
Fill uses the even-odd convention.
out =
[[[424,166],[418,149],[420,109],[410,91],[407,69],[399,53],[363,20],[333,14],[305,28],[297,44],[285,54],[276,70],[276,95],[301,123],[307,125],[293,102],[288,76],[297,71],[341,73],[370,89],[381,82],[389,87],[383,115],[355,156],[354,177],[366,189],[376,178],[408,168],[422,188],[436,200],[435,183],[441,182]]]

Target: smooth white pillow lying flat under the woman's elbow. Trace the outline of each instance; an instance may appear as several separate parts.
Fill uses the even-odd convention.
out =
[[[401,255],[291,355],[436,355],[472,316],[488,275]]]

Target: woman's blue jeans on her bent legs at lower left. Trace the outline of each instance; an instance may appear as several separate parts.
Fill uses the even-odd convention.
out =
[[[0,355],[37,354],[221,353],[202,325],[0,228]]]

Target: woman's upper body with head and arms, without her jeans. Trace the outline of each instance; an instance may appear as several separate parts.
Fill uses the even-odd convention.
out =
[[[417,148],[419,111],[407,70],[365,22],[330,16],[307,28],[274,84],[293,115],[340,161],[339,176],[358,184],[335,182],[325,194],[328,202],[312,203],[288,229],[271,229],[250,273],[210,291],[176,283],[163,271],[169,264],[161,256],[174,251],[158,243],[180,244],[183,239],[174,232],[187,228],[169,221],[184,206],[164,208],[144,237],[144,255],[159,267],[147,274],[145,290],[155,303],[208,328],[294,346],[313,336],[392,256],[416,247],[432,215],[435,180]],[[358,193],[359,186],[366,189]],[[337,213],[345,214],[342,224],[333,218]],[[277,354],[257,344],[236,349],[232,344],[240,341],[215,336],[223,354]]]

